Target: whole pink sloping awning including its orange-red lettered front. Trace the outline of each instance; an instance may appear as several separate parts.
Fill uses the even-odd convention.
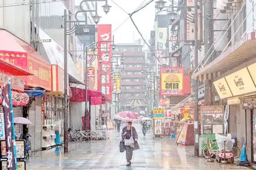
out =
[[[33,76],[24,78],[26,86],[42,87],[51,91],[51,65],[31,45],[6,30],[0,30],[0,37],[0,58],[33,73]]]

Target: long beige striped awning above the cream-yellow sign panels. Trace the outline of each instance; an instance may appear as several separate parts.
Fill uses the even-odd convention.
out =
[[[244,35],[238,42],[222,52],[214,61],[192,74],[192,79],[212,79],[221,71],[234,68],[256,53],[255,32]]]

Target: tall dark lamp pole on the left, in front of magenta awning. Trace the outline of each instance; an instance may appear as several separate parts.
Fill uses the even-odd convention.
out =
[[[68,110],[67,110],[67,10],[64,10],[64,153],[69,152]]]

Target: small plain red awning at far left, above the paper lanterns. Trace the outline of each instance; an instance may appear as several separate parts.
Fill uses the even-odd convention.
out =
[[[28,71],[22,69],[22,68],[18,68],[14,65],[12,65],[11,63],[7,63],[4,60],[0,59],[0,71],[2,73],[9,73],[12,76],[31,76],[33,75],[32,73],[29,73]]]

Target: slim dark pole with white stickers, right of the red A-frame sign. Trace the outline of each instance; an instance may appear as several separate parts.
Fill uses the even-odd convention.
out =
[[[195,6],[195,60],[194,68],[197,68],[198,65],[198,20],[197,20],[197,1],[194,3]],[[195,109],[194,109],[194,156],[199,156],[199,130],[198,130],[198,85],[197,79],[194,80],[194,95],[195,95]]]

